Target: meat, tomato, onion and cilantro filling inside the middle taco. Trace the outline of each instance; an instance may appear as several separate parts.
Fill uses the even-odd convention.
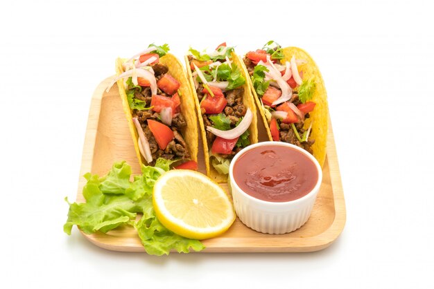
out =
[[[223,43],[211,53],[190,48],[187,56],[211,147],[211,164],[220,174],[228,174],[230,160],[250,145],[252,111],[243,104],[245,78],[232,63],[233,51]]]

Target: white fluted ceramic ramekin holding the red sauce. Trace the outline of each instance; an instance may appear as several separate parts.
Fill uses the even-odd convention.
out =
[[[243,192],[234,181],[234,165],[236,160],[240,158],[243,153],[250,151],[256,147],[264,147],[268,145],[279,145],[296,149],[315,164],[318,169],[318,182],[315,187],[302,198],[288,202],[268,202],[262,201],[249,194]],[[316,196],[320,191],[322,183],[322,169],[318,161],[307,151],[290,145],[286,142],[259,142],[254,145],[245,147],[238,152],[232,159],[229,167],[229,182],[232,189],[232,198],[234,199],[235,212],[241,222],[255,231],[268,233],[268,234],[284,234],[297,230],[304,225],[311,216],[313,204],[315,203]]]

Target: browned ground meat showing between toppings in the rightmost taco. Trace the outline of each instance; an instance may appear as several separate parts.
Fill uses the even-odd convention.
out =
[[[252,62],[252,60],[250,60],[247,56],[245,56],[243,58],[243,62],[245,64],[245,67],[247,67],[249,75],[252,76],[254,73],[254,66],[256,66],[256,64],[254,64]],[[302,103],[298,99],[297,91],[293,91],[292,101],[293,101],[293,104],[295,104],[295,106]],[[304,119],[306,119],[306,118],[309,118],[309,113],[306,113],[306,115],[304,115]],[[280,135],[280,140],[282,142],[288,142],[290,144],[296,145],[297,147],[301,147],[303,149],[306,149],[306,151],[309,151],[309,153],[313,153],[313,151],[311,149],[311,145],[313,145],[315,140],[312,140],[311,138],[309,138],[307,140],[307,142],[300,142],[298,140],[297,136],[295,136],[293,127],[290,124],[279,123],[279,126],[280,126],[279,135]],[[300,121],[300,122],[295,123],[295,128],[297,129],[298,134],[300,136],[302,136],[304,131],[305,131],[303,129],[303,127],[304,127],[304,121]]]

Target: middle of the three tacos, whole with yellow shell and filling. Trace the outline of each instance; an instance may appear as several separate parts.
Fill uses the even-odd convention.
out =
[[[199,116],[207,175],[227,181],[229,164],[238,151],[258,142],[257,111],[233,47],[225,43],[210,53],[190,48],[185,56]]]

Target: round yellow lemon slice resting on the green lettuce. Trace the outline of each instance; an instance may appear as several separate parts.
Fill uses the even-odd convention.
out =
[[[154,185],[153,205],[159,221],[191,239],[209,239],[235,221],[234,207],[225,191],[198,171],[175,169]]]

